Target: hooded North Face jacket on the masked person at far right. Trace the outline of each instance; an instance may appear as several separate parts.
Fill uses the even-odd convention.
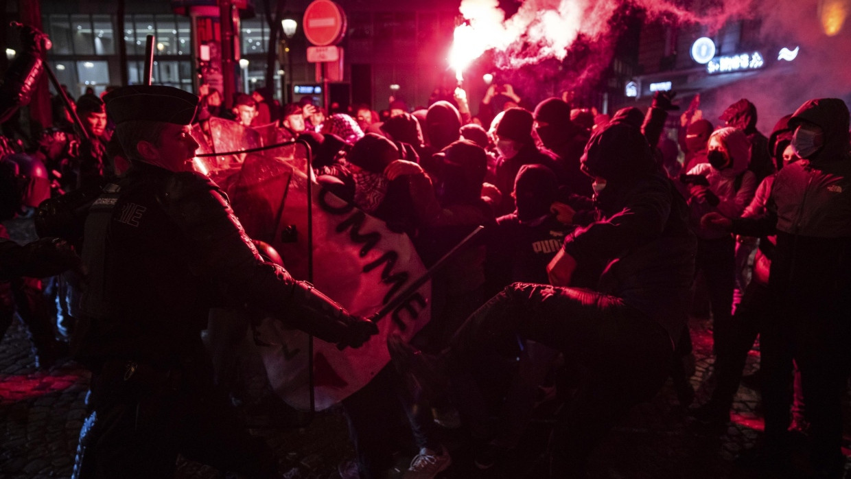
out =
[[[769,288],[778,298],[818,311],[849,312],[851,294],[851,153],[848,106],[838,99],[809,100],[792,116],[825,131],[812,157],[781,169],[768,210],[734,220],[734,232],[777,233]],[[837,306],[839,309],[837,309]],[[847,316],[846,316],[847,317]]]

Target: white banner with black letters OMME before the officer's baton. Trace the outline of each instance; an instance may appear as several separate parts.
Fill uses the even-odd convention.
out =
[[[277,249],[290,274],[307,279],[306,150],[291,157],[248,154],[227,190],[250,237]],[[426,272],[407,235],[334,197],[311,188],[313,283],[349,311],[368,316]],[[314,341],[316,408],[334,405],[366,385],[390,360],[386,339],[410,340],[431,317],[431,284],[379,322],[380,333],[358,349],[339,351]],[[283,318],[284,323],[286,318]],[[294,408],[310,408],[308,336],[266,318],[258,328],[270,384]]]

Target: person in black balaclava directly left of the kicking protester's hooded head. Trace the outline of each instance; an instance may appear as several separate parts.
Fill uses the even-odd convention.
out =
[[[541,101],[534,110],[535,133],[562,168],[571,193],[591,197],[591,180],[580,170],[588,134],[570,121],[570,105],[558,98]]]

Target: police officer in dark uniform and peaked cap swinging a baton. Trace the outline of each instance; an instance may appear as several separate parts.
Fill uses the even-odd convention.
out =
[[[71,346],[92,380],[74,476],[173,476],[178,453],[272,476],[271,451],[214,388],[208,308],[249,304],[340,347],[377,328],[263,261],[225,194],[191,170],[197,96],[130,86],[105,100],[131,166],[86,220],[89,283]]]

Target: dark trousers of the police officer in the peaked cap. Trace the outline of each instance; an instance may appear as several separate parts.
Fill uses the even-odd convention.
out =
[[[200,340],[198,347],[201,347]],[[73,477],[172,477],[178,454],[223,471],[269,477],[277,462],[213,385],[206,356],[180,368],[107,362],[92,375]]]

